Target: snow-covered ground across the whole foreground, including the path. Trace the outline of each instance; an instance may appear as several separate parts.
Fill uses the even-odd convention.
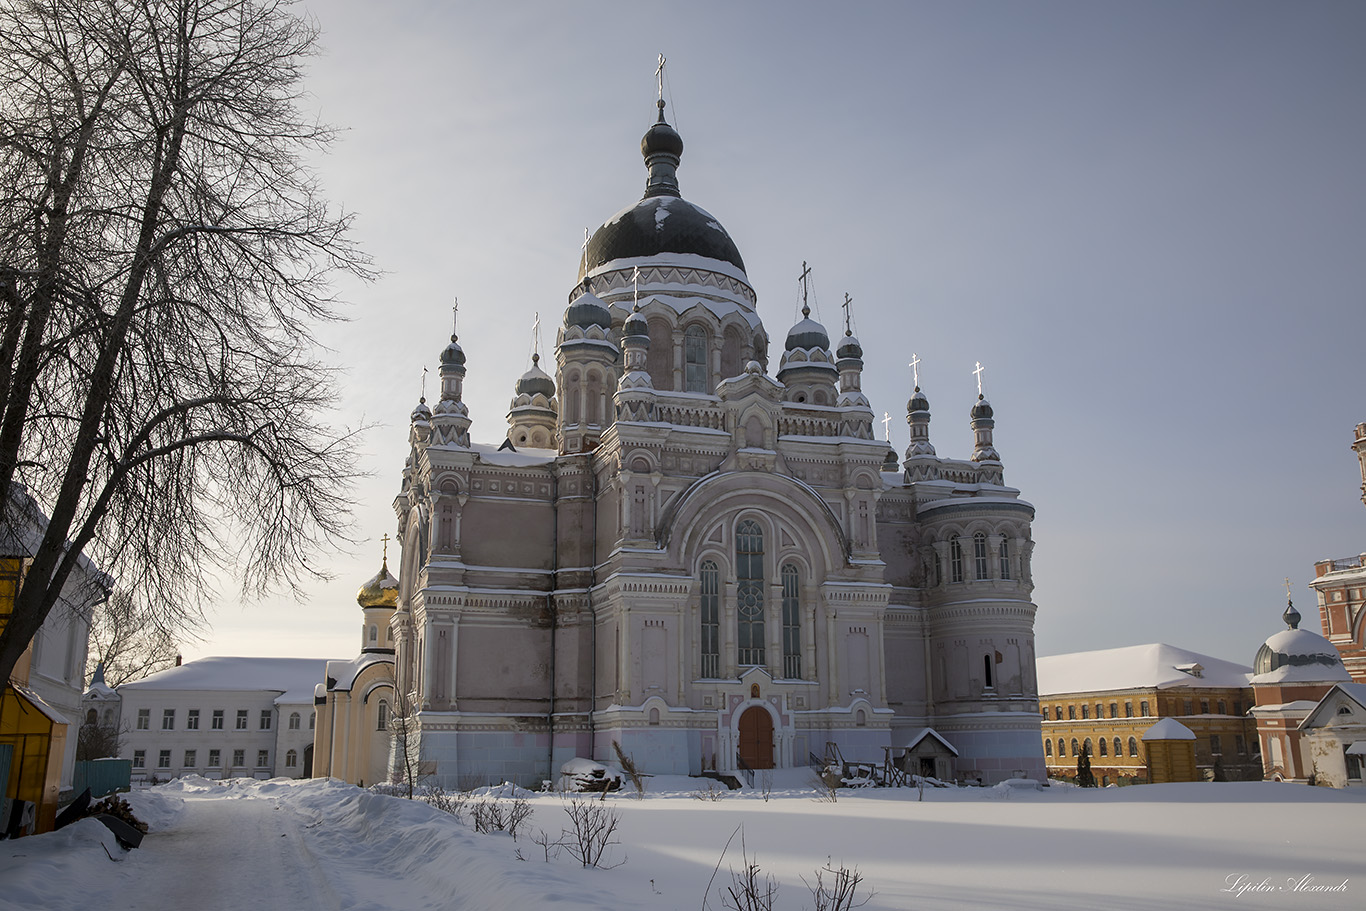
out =
[[[479,835],[336,781],[187,779],[131,795],[152,826],[135,851],[93,819],[0,843],[0,908],[720,910],[742,839],[779,884],[776,910],[810,908],[802,878],[828,863],[858,867],[869,910],[1366,907],[1361,789],[928,788],[921,802],[904,788],[831,803],[807,779],[780,774],[766,800],[758,789],[695,799],[705,784],[691,779],[653,779],[643,800],[611,795],[612,869],[564,852],[546,862],[526,836]],[[531,830],[568,825],[560,796],[530,804]]]

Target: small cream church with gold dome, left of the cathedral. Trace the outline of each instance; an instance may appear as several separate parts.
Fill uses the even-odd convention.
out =
[[[313,777],[366,787],[389,780],[396,709],[389,619],[399,601],[399,580],[389,575],[388,553],[355,600],[363,615],[361,654],[350,661],[328,661],[326,680],[314,694]]]

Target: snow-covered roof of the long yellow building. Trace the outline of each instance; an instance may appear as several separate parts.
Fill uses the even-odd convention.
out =
[[[1201,676],[1190,673],[1191,665],[1199,665]],[[1041,697],[1154,687],[1246,687],[1251,677],[1251,668],[1244,664],[1165,642],[1055,654],[1038,658],[1037,669]]]

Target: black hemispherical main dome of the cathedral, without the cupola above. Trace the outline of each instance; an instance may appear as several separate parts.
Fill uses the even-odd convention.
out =
[[[712,213],[680,197],[658,195],[622,209],[593,232],[579,279],[613,260],[661,253],[691,253],[744,270],[739,249]]]

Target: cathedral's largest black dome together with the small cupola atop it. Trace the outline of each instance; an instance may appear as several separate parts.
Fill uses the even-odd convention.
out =
[[[682,253],[719,260],[744,272],[744,260],[716,216],[679,194],[678,165],[683,139],[660,117],[641,139],[641,154],[650,176],[645,195],[608,219],[589,238],[579,264],[579,277],[613,260]]]

